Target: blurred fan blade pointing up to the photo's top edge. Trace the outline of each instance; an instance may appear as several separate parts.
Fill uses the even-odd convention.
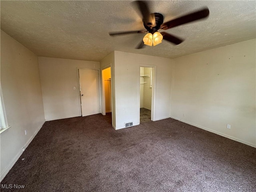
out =
[[[155,20],[152,14],[150,14],[148,8],[148,1],[134,1],[136,6],[139,8],[140,13],[142,14],[143,20],[147,25],[152,25],[153,27],[156,25]]]

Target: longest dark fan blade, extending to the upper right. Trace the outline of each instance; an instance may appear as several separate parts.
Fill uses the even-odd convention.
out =
[[[206,18],[209,16],[209,9],[208,8],[204,8],[200,11],[196,11],[184,16],[181,16],[179,18],[176,18],[174,20],[170,20],[168,22],[165,22],[161,25],[161,28],[166,30],[166,29],[170,29],[185,23],[189,23],[195,20],[199,20],[202,18]]]

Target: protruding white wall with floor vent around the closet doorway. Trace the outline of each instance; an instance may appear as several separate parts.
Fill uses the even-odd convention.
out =
[[[143,64],[156,66],[153,120],[170,117],[172,60],[119,51],[115,51],[114,57],[115,128],[124,128],[124,122],[133,122],[134,125],[139,124],[140,65]]]

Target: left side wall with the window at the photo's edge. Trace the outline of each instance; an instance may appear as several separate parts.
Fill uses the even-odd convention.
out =
[[[2,180],[45,122],[38,58],[3,31],[1,86],[11,126],[0,136]]]

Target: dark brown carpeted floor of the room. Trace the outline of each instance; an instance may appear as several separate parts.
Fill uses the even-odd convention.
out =
[[[22,160],[24,158],[24,160]],[[168,118],[121,130],[111,114],[49,121],[1,192],[253,192],[256,148]]]

